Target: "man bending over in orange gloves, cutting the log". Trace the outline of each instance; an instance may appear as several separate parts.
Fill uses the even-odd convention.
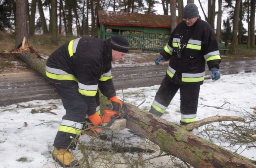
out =
[[[120,35],[105,41],[82,37],[62,45],[48,58],[46,76],[57,89],[66,110],[52,154],[61,166],[79,165],[68,149],[75,149],[70,136],[79,137],[85,119],[94,125],[102,123],[98,88],[112,102],[113,110],[122,108],[112,82],[111,61],[122,59],[128,49],[128,40]]]

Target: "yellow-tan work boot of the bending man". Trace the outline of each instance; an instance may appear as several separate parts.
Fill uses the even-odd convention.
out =
[[[52,158],[55,161],[58,161],[58,163],[62,167],[77,167],[77,166],[79,166],[78,161],[76,159],[72,158],[68,149],[54,148],[54,150],[52,152]]]

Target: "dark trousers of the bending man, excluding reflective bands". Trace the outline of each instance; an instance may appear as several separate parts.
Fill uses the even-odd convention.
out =
[[[88,106],[83,96],[78,92],[78,83],[71,80],[54,80],[51,78],[48,78],[48,80],[58,91],[66,110],[66,115],[63,116],[62,119],[83,124],[85,122]],[[53,146],[57,148],[69,147],[69,149],[74,149],[76,144],[70,145],[72,141],[70,136],[74,138],[79,137],[77,134],[58,131]]]

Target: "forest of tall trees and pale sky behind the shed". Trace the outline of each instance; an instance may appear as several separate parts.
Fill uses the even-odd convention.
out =
[[[14,33],[15,48],[23,37],[29,42],[35,32],[50,35],[51,44],[58,45],[61,36],[74,35],[74,28],[78,37],[98,37],[98,10],[157,14],[159,6],[163,14],[171,14],[173,30],[173,16],[183,18],[186,3],[199,4],[201,17],[216,27],[218,42],[230,42],[229,53],[236,53],[237,44],[255,48],[255,0],[0,0],[0,30]]]

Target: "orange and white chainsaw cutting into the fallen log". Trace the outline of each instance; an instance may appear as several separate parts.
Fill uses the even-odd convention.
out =
[[[126,127],[126,119],[124,117],[127,116],[127,107],[123,104],[123,108],[120,108],[118,111],[114,110],[103,110],[101,114],[102,125],[103,127],[107,127],[107,129],[111,130],[123,130]],[[100,127],[91,128],[94,131],[102,131],[103,129]]]

